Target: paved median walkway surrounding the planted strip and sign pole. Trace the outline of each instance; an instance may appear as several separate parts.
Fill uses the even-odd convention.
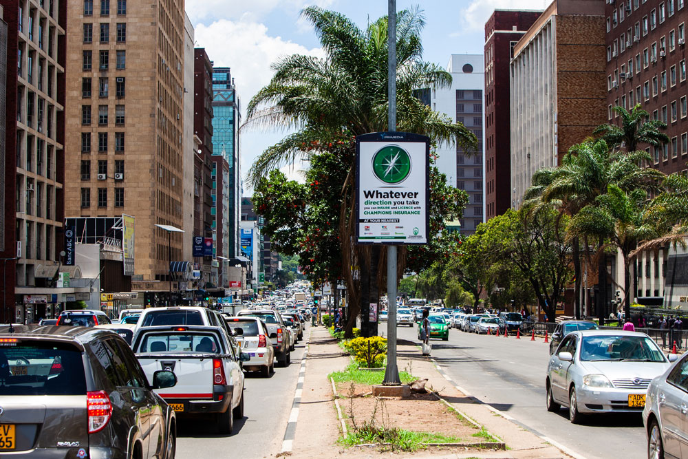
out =
[[[341,435],[337,420],[332,385],[327,374],[343,370],[349,363],[349,356],[339,348],[324,327],[312,328],[305,378],[301,393],[301,405],[294,436],[291,456],[295,458],[513,458],[544,459],[568,458],[567,454],[550,445],[546,440],[519,427],[516,423],[495,414],[490,407],[460,392],[455,383],[447,381],[436,364],[421,355],[420,347],[409,341],[398,343],[399,370],[411,372],[419,378],[428,378],[429,385],[440,392],[458,412],[484,425],[491,434],[501,438],[510,449],[507,451],[442,451],[428,449],[416,453],[380,453],[374,449],[345,449],[336,444]]]

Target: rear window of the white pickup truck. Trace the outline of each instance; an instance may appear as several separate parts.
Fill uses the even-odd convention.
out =
[[[180,352],[205,352],[220,354],[217,336],[207,332],[165,332],[145,334],[136,352],[155,354],[179,354]]]

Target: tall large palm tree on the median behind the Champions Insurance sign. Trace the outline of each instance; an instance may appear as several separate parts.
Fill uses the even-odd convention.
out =
[[[256,184],[271,169],[308,157],[312,145],[327,145],[342,137],[387,130],[387,17],[360,30],[350,19],[318,7],[301,12],[312,23],[325,51],[324,58],[292,55],[272,64],[275,76],[252,98],[245,125],[296,129],[294,134],[261,153],[248,172]],[[469,151],[477,147],[475,136],[461,124],[438,114],[416,97],[418,89],[451,85],[451,75],[438,65],[422,61],[420,31],[424,17],[418,9],[397,15],[397,125],[399,131],[429,136],[434,142],[457,142]],[[359,303],[377,303],[378,285],[384,273],[384,257],[378,247],[352,244],[354,234],[353,178],[356,158],[349,164],[342,184],[340,234],[343,277],[350,292],[351,314],[347,334],[353,328]],[[361,292],[348,266],[365,262]],[[362,267],[363,268],[363,267]]]

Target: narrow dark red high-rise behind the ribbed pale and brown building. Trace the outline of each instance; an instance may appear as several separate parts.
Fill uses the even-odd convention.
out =
[[[495,10],[485,23],[485,217],[511,206],[509,63],[541,11]]]

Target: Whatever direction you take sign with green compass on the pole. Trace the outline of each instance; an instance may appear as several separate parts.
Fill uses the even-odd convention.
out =
[[[358,244],[427,244],[430,140],[407,132],[356,137]]]

